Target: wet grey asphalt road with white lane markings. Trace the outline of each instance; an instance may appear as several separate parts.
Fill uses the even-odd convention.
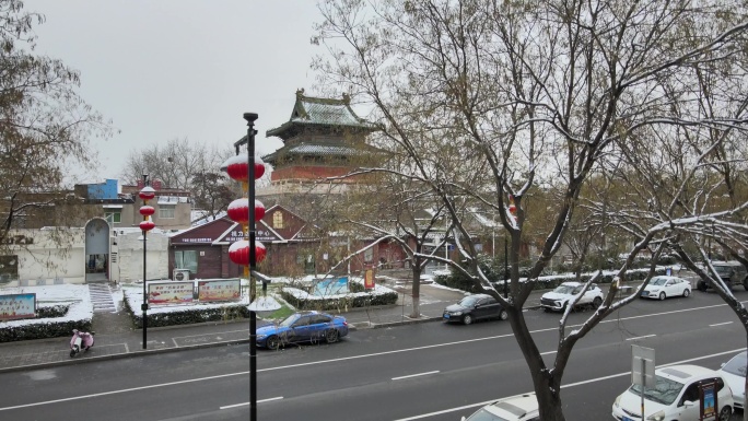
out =
[[[525,315],[552,363],[560,315]],[[616,316],[575,347],[562,389],[568,420],[612,419],[610,406],[630,384],[633,343],[654,348],[657,365],[712,369],[746,347],[745,329],[713,293],[639,300]],[[260,420],[459,420],[531,390],[505,321],[364,329],[331,346],[260,351],[258,366]],[[0,384],[3,421],[247,420],[248,346],[4,373]]]

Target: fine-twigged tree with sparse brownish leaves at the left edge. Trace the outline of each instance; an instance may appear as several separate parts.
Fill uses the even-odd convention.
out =
[[[44,16],[23,11],[17,0],[0,1],[0,244],[27,221],[70,226],[81,217],[61,207],[71,198],[70,174],[91,171],[92,138],[110,127],[78,94],[78,71],[35,55],[33,25]],[[67,209],[69,210],[69,209]],[[57,237],[59,244],[63,236]]]

